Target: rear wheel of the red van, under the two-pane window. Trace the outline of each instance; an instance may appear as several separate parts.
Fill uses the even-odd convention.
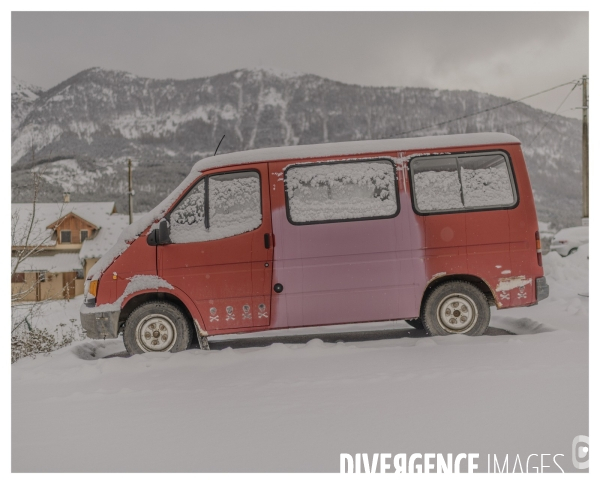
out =
[[[429,293],[420,319],[431,336],[481,336],[490,324],[490,306],[485,295],[473,284],[447,282]]]

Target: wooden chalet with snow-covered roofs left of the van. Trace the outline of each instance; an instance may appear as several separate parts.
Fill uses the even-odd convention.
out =
[[[117,240],[129,217],[114,202],[14,203],[12,294],[26,301],[83,294],[90,268]]]

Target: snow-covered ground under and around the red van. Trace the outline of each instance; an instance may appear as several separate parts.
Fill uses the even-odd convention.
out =
[[[511,469],[517,454],[563,454],[573,471],[571,442],[589,435],[587,246],[544,267],[547,300],[492,312],[514,335],[419,337],[393,322],[333,331],[409,337],[131,358],[104,358],[121,340],[86,340],[24,358],[12,365],[13,471],[337,472],[340,453],[358,452],[476,452],[484,471],[488,453]],[[51,303],[34,324],[52,330],[79,304]]]

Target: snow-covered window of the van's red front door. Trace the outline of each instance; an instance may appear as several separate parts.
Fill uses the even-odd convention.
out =
[[[256,171],[205,177],[170,215],[176,244],[233,237],[262,224],[260,175]]]

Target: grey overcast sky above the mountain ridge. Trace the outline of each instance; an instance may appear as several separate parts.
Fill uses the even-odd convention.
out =
[[[517,99],[588,73],[587,13],[13,13],[12,74],[50,88],[89,67],[154,78],[274,67],[372,86]],[[570,86],[528,100],[554,112]],[[577,88],[559,111],[579,117]]]

